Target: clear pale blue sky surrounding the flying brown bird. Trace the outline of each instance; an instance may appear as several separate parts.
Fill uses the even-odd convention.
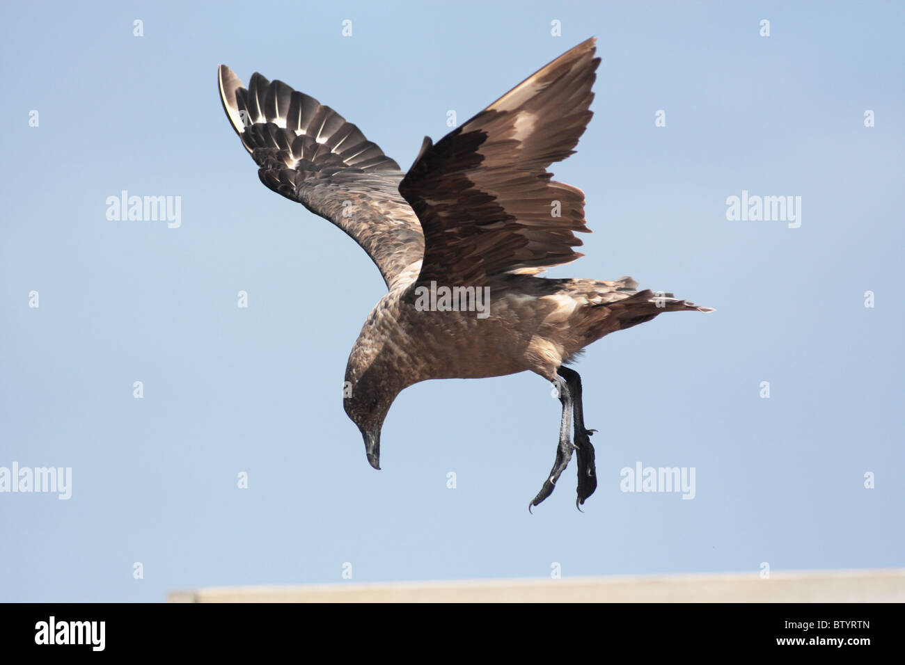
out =
[[[340,583],[344,564],[354,582],[903,565],[903,29],[880,2],[5,5],[0,467],[69,467],[71,498],[0,493],[0,600]],[[341,383],[383,282],[259,182],[217,65],[309,93],[405,168],[449,110],[591,35],[595,117],[554,171],[595,233],[550,274],[717,311],[576,366],[599,430],[585,514],[573,463],[529,516],[560,408],[537,375],[405,390],[371,469]],[[179,196],[179,227],[109,220],[122,190]],[[800,196],[800,226],[729,221],[743,191]],[[693,468],[694,498],[622,491],[638,463]]]

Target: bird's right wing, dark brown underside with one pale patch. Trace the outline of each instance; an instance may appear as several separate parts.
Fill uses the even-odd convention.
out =
[[[479,285],[541,272],[582,254],[585,195],[551,180],[593,115],[600,62],[589,39],[421,152],[399,185],[424,229],[418,281]]]

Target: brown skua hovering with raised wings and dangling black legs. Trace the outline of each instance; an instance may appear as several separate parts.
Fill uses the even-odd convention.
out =
[[[405,388],[533,372],[562,405],[556,457],[529,511],[576,454],[576,507],[597,486],[581,376],[601,337],[667,311],[712,311],[617,280],[552,279],[583,254],[585,195],[548,167],[575,152],[593,112],[595,38],[549,62],[433,143],[407,172],[329,106],[220,65],[227,118],[271,190],[337,225],[376,263],[386,295],[348,357],[343,406],[380,469],[380,432]],[[570,432],[570,423],[574,424]],[[570,435],[571,434],[571,435]],[[574,442],[573,442],[574,439]]]

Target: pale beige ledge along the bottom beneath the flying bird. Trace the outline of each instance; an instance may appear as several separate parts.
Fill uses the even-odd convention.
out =
[[[238,586],[169,603],[903,603],[905,569]]]

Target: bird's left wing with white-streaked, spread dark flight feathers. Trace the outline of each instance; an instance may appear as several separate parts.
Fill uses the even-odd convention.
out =
[[[348,233],[389,288],[414,279],[424,234],[399,194],[399,165],[336,111],[282,81],[254,73],[246,89],[220,65],[218,83],[262,183]]]

